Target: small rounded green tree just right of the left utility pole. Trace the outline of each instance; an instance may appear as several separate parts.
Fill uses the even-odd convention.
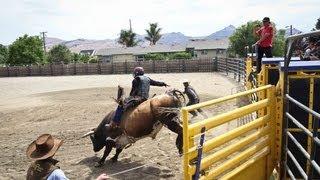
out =
[[[68,64],[72,60],[72,53],[66,45],[56,45],[48,52],[48,62]]]

